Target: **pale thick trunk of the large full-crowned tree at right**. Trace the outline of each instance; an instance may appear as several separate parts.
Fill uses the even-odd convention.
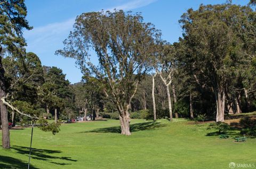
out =
[[[216,113],[216,122],[224,122],[225,115],[225,99],[226,94],[224,90],[215,89],[215,99],[217,102],[217,113]]]

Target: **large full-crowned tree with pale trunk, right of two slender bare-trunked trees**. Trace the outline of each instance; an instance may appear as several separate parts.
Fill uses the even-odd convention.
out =
[[[240,19],[246,18],[246,9],[232,4],[201,5],[198,10],[189,9],[179,21],[194,66],[215,95],[217,122],[224,120],[227,88],[236,76],[235,68],[244,64],[237,29]]]

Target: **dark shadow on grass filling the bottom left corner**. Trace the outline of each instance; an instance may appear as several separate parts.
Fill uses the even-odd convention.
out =
[[[13,158],[13,157],[6,157],[6,156],[0,156],[0,168],[27,168],[28,162],[23,162],[20,159]],[[30,165],[29,168],[31,169],[39,169],[37,167],[34,167],[33,165]]]

